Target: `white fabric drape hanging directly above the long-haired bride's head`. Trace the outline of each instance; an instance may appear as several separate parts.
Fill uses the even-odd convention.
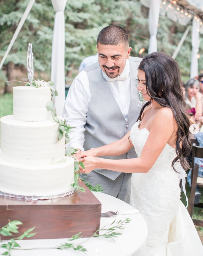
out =
[[[149,49],[148,53],[157,52],[157,30],[161,0],[151,0],[149,7]]]

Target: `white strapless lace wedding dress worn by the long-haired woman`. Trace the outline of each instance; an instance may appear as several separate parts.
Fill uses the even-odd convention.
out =
[[[149,136],[147,129],[139,130],[140,123],[130,132],[138,157]],[[130,204],[147,222],[147,256],[203,256],[201,240],[180,201],[178,173],[171,167],[175,157],[175,149],[166,144],[148,173],[132,174]]]

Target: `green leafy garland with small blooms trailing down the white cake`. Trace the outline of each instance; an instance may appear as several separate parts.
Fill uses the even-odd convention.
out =
[[[30,83],[26,83],[25,86],[30,86]],[[67,126],[66,124],[66,120],[63,118],[63,117],[59,117],[57,116],[57,113],[56,113],[56,108],[55,108],[55,104],[54,104],[54,96],[57,96],[58,95],[58,92],[56,89],[54,89],[54,82],[46,82],[44,80],[35,80],[33,79],[32,81],[32,86],[35,87],[35,88],[40,88],[40,87],[49,87],[50,90],[51,90],[51,101],[48,102],[46,104],[46,108],[47,110],[51,111],[51,115],[53,117],[53,120],[55,122],[58,123],[58,140],[61,140],[63,138],[63,136],[65,136],[65,142],[66,144],[70,141],[70,138],[69,138],[69,133],[71,132],[71,129],[73,129],[74,127],[71,127],[71,126]],[[78,162],[77,161],[77,158],[75,156],[75,152],[77,150],[74,149],[74,148],[67,148],[66,149],[66,156],[69,156],[69,157],[72,157],[74,158],[75,162],[75,168],[74,168],[74,183],[72,184],[72,187],[75,188],[75,190],[79,191],[79,192],[85,192],[85,188],[84,187],[80,187],[78,185],[78,181],[81,181],[79,175],[80,175],[80,166],[82,166],[82,168],[84,169],[84,164],[82,162]],[[101,185],[96,185],[96,186],[92,186],[90,185],[90,183],[86,183],[86,181],[82,180],[85,185],[89,188],[89,190],[92,190],[92,191],[96,191],[96,192],[101,192],[103,191],[103,189],[101,188]]]

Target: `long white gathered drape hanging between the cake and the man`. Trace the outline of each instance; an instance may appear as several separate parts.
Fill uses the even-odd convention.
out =
[[[65,18],[67,0],[51,0],[54,10],[54,34],[51,54],[51,81],[55,83],[58,96],[55,98],[56,112],[62,116],[65,103]]]

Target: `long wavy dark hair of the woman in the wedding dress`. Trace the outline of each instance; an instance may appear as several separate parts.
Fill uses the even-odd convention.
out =
[[[190,123],[185,111],[186,103],[178,63],[166,53],[154,52],[144,56],[138,69],[145,72],[146,89],[151,100],[143,104],[137,120],[141,120],[144,109],[152,100],[162,107],[171,108],[178,125],[178,138],[175,144],[177,157],[173,160],[172,167],[175,170],[174,164],[179,160],[184,170],[187,170],[190,168],[186,159],[191,152]]]

